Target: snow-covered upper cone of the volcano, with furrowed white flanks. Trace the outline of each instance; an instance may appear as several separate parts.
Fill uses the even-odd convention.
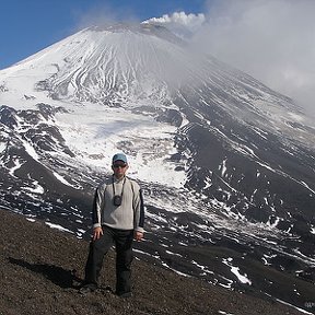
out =
[[[90,27],[2,71],[3,89],[40,102],[44,91],[54,100],[106,105],[164,103],[167,83],[183,78],[187,65],[179,39],[172,36],[150,24]]]

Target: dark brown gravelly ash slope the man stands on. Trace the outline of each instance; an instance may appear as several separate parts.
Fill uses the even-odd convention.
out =
[[[113,253],[106,259],[101,289],[82,296],[77,285],[86,242],[5,210],[0,210],[0,218],[1,314],[301,314],[279,302],[209,285],[138,259],[133,264],[133,296],[121,300],[106,290],[115,281]]]

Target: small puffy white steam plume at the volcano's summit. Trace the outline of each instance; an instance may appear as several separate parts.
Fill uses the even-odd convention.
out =
[[[143,23],[153,23],[167,27],[182,38],[189,38],[200,30],[206,21],[203,13],[186,14],[185,12],[174,12],[172,15],[164,14],[162,18],[152,18]]]

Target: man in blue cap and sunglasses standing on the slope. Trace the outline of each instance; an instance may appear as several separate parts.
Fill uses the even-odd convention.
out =
[[[85,284],[81,293],[97,289],[103,258],[113,244],[116,247],[116,294],[131,295],[132,240],[143,237],[144,208],[139,185],[126,177],[127,158],[113,156],[113,176],[102,183],[93,202],[93,240],[85,265]]]

